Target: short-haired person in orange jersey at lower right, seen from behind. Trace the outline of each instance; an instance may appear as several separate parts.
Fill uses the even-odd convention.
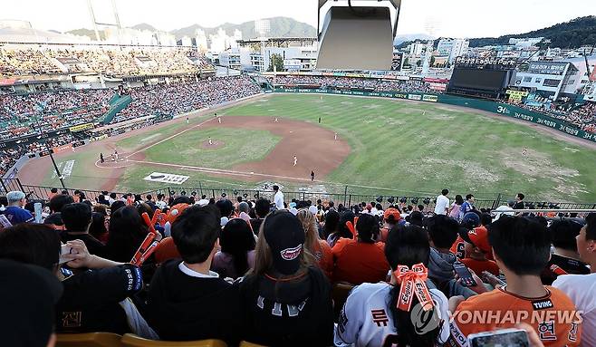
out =
[[[540,280],[551,249],[546,227],[535,218],[503,216],[488,227],[488,240],[507,284],[466,301],[450,299],[454,319],[447,345],[468,346],[466,336],[471,333],[528,323],[544,346],[578,346],[582,317],[566,294]],[[481,314],[467,319],[475,313]]]

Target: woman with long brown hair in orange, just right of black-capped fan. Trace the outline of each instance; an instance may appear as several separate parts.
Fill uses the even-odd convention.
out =
[[[326,241],[319,238],[317,217],[308,209],[300,209],[298,214],[296,214],[296,217],[298,217],[298,220],[302,223],[306,237],[304,241],[304,250],[314,257],[314,261],[319,265],[325,275],[327,275],[327,278],[332,278],[332,248],[327,245]]]

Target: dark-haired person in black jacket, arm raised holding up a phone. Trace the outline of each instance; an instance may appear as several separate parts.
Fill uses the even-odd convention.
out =
[[[62,280],[64,294],[56,306],[58,333],[136,333],[157,335],[128,298],[143,285],[139,268],[90,255],[81,240],[69,241],[73,253],[61,257],[60,237],[52,227],[21,225],[0,234],[0,258],[50,270]],[[70,261],[67,261],[70,260]],[[73,275],[62,268],[82,269]]]

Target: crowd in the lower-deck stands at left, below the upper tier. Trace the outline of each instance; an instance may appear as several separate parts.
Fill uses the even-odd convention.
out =
[[[112,120],[119,123],[146,116],[172,117],[197,111],[229,101],[236,101],[261,92],[261,89],[245,76],[208,78],[197,82],[179,82],[130,88],[132,102]],[[57,90],[29,94],[0,94],[0,140],[12,140],[32,134],[60,130],[78,124],[93,123],[110,110],[109,101],[115,91]],[[95,133],[112,136],[124,130],[134,130],[155,123],[155,120],[134,122],[125,129],[104,130]],[[53,148],[73,141],[68,131],[52,138],[48,147]],[[24,155],[45,149],[40,142],[11,149],[0,149],[0,175],[4,175]]]

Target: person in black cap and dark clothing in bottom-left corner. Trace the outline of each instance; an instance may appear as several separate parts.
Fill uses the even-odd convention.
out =
[[[0,341],[11,347],[52,347],[54,305],[62,284],[35,265],[0,260]]]

